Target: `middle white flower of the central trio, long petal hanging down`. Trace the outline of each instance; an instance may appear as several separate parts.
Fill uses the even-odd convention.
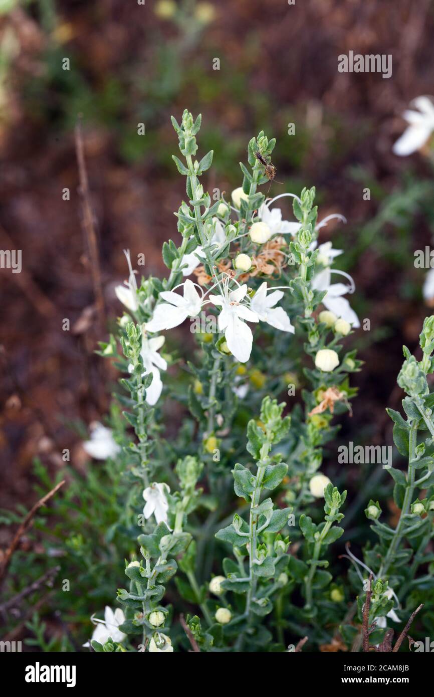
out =
[[[222,307],[218,326],[221,332],[224,331],[229,351],[237,360],[245,363],[250,358],[253,335],[250,327],[242,320],[258,322],[259,319],[249,307],[242,305],[242,300],[247,293],[246,284],[238,286],[235,291],[229,291],[228,282],[229,277],[226,277],[222,283],[222,295],[210,295],[210,300],[215,305]]]

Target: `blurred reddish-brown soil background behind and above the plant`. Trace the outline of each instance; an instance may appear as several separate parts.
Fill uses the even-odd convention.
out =
[[[185,107],[203,114],[200,151],[215,149],[208,190],[240,185],[238,161],[258,130],[276,137],[273,162],[285,187],[274,184],[271,193],[316,185],[320,217],[339,211],[348,218],[343,240],[350,250],[378,201],[364,201],[369,183],[349,172],[358,168],[386,192],[410,167],[429,177],[421,155],[397,158],[392,144],[408,102],[434,92],[431,0],[190,3],[196,31],[162,17],[161,3],[151,1],[11,5],[0,17],[0,247],[22,250],[23,270],[0,270],[2,507],[34,500],[36,455],[54,471],[68,447],[74,466],[82,466],[71,424],[107,413],[115,376],[93,351],[121,312],[114,286],[127,276],[122,250],[133,258],[144,252],[146,273],[161,275],[162,242],[178,240],[173,211],[185,192],[170,157],[177,151],[171,114],[179,118]],[[339,73],[338,56],[350,50],[392,54],[392,77]],[[79,113],[108,324],[93,311],[75,157]],[[137,135],[139,122],[144,136]],[[295,123],[295,136],[288,123]],[[334,230],[327,227],[323,240]],[[381,234],[394,244],[390,231]],[[423,217],[415,216],[408,236],[413,250],[430,243]],[[405,278],[421,286],[412,258],[405,263]],[[347,426],[356,433],[383,423],[401,345],[414,346],[426,307],[420,291],[403,299],[404,272],[375,245],[350,270],[362,316],[389,330],[361,345],[361,397]],[[65,318],[69,332],[62,330]]]

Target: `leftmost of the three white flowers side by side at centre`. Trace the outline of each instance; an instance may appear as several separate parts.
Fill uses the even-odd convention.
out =
[[[160,305],[155,307],[153,318],[145,325],[146,331],[160,332],[163,329],[172,329],[183,323],[187,317],[195,317],[201,312],[202,298],[196,291],[194,283],[187,279],[183,286],[183,296],[174,291],[160,293],[166,302],[160,302]]]

